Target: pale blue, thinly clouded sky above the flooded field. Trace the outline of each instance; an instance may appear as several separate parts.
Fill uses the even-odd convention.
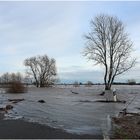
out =
[[[47,54],[56,60],[62,83],[103,82],[104,70],[83,57],[84,35],[99,14],[117,16],[126,26],[136,66],[115,81],[140,82],[140,2],[0,1],[0,74],[25,73],[26,58]]]

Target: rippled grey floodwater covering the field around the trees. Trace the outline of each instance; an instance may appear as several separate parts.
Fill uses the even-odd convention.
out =
[[[25,99],[12,104],[14,108],[6,115],[6,119],[38,122],[71,133],[107,134],[111,129],[110,117],[118,115],[128,104],[129,111],[140,111],[140,86],[115,86],[115,88],[118,98],[127,101],[125,104],[95,102],[105,99],[99,95],[103,90],[101,85],[30,87],[28,93],[24,94],[1,93],[0,104],[12,104],[8,99]],[[38,102],[42,99],[45,103]]]

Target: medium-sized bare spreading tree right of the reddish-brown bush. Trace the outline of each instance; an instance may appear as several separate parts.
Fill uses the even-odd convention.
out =
[[[27,73],[33,75],[37,87],[48,86],[55,82],[55,59],[49,59],[47,55],[36,56],[26,59],[24,64],[29,68]]]

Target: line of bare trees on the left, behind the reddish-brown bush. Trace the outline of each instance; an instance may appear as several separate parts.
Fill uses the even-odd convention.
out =
[[[34,79],[33,83],[37,87],[45,87],[54,84],[58,79],[56,78],[56,63],[55,59],[49,58],[47,55],[35,56],[25,59],[24,65],[27,67],[27,77]],[[4,73],[0,77],[0,84],[8,85],[15,82],[28,83],[27,78],[23,77],[21,73]]]

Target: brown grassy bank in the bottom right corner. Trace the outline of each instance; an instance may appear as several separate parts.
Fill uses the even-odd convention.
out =
[[[113,118],[113,139],[140,139],[140,114]]]

